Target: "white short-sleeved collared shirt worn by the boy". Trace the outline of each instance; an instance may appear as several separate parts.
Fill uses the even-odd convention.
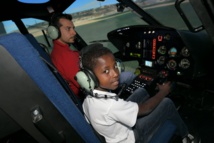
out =
[[[134,143],[132,127],[137,120],[137,103],[116,100],[115,93],[94,90],[93,94],[99,98],[88,95],[83,102],[83,111],[94,129],[107,143]],[[107,98],[100,98],[104,96]]]

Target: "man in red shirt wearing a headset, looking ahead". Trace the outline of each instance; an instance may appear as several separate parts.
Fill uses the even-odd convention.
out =
[[[79,94],[80,86],[73,78],[79,71],[79,52],[71,50],[69,46],[74,43],[76,35],[71,20],[72,16],[68,14],[57,14],[51,18],[50,26],[56,28],[56,33],[51,33],[54,35],[51,35],[53,39],[51,60],[62,77],[68,82],[74,94],[81,98]]]

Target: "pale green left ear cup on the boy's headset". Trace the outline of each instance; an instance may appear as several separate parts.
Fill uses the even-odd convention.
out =
[[[81,70],[75,76],[76,81],[80,87],[87,92],[91,93],[92,90],[97,86],[97,81],[94,80],[94,74],[89,70]]]

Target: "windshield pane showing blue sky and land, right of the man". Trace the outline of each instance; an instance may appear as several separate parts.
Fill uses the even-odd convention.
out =
[[[101,42],[113,52],[117,49],[108,41],[109,31],[129,25],[148,25],[133,10],[125,7],[123,11],[118,10],[117,0],[75,1],[64,12],[72,14],[75,30],[87,44]]]

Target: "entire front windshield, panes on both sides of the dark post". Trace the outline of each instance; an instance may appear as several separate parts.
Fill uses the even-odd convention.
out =
[[[160,24],[180,30],[188,30],[185,22],[175,8],[175,0],[134,0],[136,5],[155,18]],[[194,27],[201,23],[196,17],[189,1],[180,5]],[[65,13],[73,16],[76,31],[87,44],[101,42],[117,49],[108,42],[107,33],[117,28],[130,25],[149,25],[143,16],[117,0],[85,0],[75,1]]]

